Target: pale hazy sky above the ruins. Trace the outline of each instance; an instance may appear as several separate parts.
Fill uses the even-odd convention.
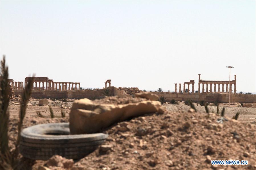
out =
[[[36,73],[83,88],[174,91],[228,80],[256,92],[255,1],[1,1],[9,77]],[[201,87],[202,89],[202,87]]]

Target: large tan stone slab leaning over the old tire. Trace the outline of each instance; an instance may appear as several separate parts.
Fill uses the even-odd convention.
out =
[[[71,134],[96,133],[102,128],[130,117],[157,112],[159,101],[141,101],[129,104],[98,104],[84,98],[73,103],[69,113]]]

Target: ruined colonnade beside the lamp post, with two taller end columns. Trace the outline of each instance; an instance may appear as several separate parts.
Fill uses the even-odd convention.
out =
[[[213,93],[212,91],[212,85],[214,85],[214,93],[224,93],[224,86],[226,85],[226,93],[228,93],[228,87],[229,87],[229,80],[227,81],[212,81],[212,80],[201,80],[200,79],[200,75],[201,74],[198,74],[199,77],[198,77],[198,93],[200,93],[200,86],[202,84],[202,93],[206,92],[206,93]],[[236,75],[235,76],[235,79],[234,80],[230,80],[230,91],[232,92],[232,85],[234,85],[234,93],[236,92]],[[187,84],[187,93],[190,93],[190,85],[192,85],[192,93],[194,93],[194,83],[195,81],[194,80],[190,80],[189,82],[184,82],[183,83],[183,93],[186,93],[185,92],[185,89],[186,89],[186,84]],[[216,91],[216,85],[218,85],[218,91]],[[222,91],[220,91],[220,85],[222,87]],[[204,91],[204,87],[206,86],[206,91]],[[208,90],[208,87],[209,90]],[[175,92],[177,93],[177,83],[175,83]],[[181,93],[181,83],[179,83],[179,93]]]

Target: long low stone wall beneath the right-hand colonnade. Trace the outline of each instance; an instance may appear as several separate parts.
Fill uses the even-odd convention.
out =
[[[171,99],[185,101],[187,99],[193,100],[194,102],[199,102],[204,100],[206,102],[219,101],[222,103],[228,103],[228,94],[222,93],[170,93],[170,92],[151,92],[156,95],[166,97],[167,101]],[[245,95],[245,94],[231,94],[230,102],[240,102],[240,103],[250,103],[256,102],[256,95]]]

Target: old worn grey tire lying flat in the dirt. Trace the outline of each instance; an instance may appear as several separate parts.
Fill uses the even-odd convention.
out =
[[[22,130],[20,152],[35,160],[47,160],[53,155],[80,159],[107,137],[104,133],[69,135],[69,123],[39,124]]]

